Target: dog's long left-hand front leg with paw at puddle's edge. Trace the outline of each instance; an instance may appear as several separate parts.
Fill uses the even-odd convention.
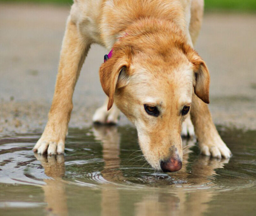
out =
[[[39,154],[64,153],[68,122],[73,108],[72,96],[90,44],[90,40],[79,34],[76,24],[69,17],[62,43],[59,70],[48,122],[41,138],[33,148]]]

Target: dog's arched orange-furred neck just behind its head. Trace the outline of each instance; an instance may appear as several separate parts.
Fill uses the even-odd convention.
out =
[[[136,41],[143,38],[144,47],[141,47]],[[184,31],[170,20],[161,20],[154,18],[144,18],[134,21],[124,31],[117,34],[113,46],[111,46],[108,55],[104,56],[104,62],[112,57],[115,49],[119,46],[130,46],[134,50],[143,52],[147,47],[151,47],[152,54],[157,50],[158,46],[164,46],[168,43],[188,43],[188,39]],[[141,41],[138,41],[141,42]]]

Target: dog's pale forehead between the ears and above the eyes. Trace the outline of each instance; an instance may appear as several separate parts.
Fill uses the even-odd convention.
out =
[[[129,80],[129,91],[143,103],[167,105],[167,101],[189,102],[193,91],[193,71],[189,64],[181,65],[171,72],[149,71],[140,65],[131,66],[134,70]]]

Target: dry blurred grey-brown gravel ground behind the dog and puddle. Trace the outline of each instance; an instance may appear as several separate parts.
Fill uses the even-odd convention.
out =
[[[69,8],[0,4],[0,136],[42,131],[50,109]],[[256,129],[256,16],[205,14],[196,50],[211,73],[215,124]],[[108,51],[93,45],[74,93],[70,127],[87,127],[105,100],[98,69]],[[121,116],[121,125],[130,124]]]

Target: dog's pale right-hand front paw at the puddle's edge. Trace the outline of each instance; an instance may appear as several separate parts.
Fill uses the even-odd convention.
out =
[[[199,144],[201,153],[206,156],[212,156],[216,158],[230,158],[232,156],[231,151],[226,144],[218,136],[212,141],[207,141]]]

